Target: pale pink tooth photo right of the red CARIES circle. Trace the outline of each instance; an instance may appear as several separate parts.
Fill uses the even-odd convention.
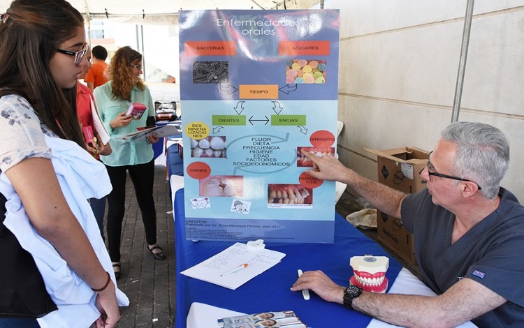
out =
[[[244,177],[210,175],[198,181],[198,195],[201,197],[242,197],[244,195]]]

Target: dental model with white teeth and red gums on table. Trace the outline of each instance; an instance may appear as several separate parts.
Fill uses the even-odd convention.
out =
[[[385,293],[388,288],[386,271],[389,267],[389,259],[386,256],[354,256],[349,260],[354,275],[349,282],[357,285],[366,292]]]

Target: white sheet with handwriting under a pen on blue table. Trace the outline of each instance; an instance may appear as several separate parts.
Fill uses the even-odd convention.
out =
[[[217,255],[208,258],[194,267],[180,272],[185,276],[214,283],[235,290],[247,281],[258,276],[263,271],[275,266],[286,254],[265,248],[252,250],[246,244],[236,243]],[[242,264],[247,267],[225,274]],[[221,276],[225,274],[224,276]]]

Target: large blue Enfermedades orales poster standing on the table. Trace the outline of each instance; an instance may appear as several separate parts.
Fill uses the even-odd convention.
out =
[[[179,16],[187,239],[332,243],[338,10]]]

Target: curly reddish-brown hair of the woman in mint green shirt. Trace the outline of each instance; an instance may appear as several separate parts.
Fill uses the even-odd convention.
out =
[[[133,82],[133,68],[131,63],[136,60],[142,61],[142,54],[131,47],[120,47],[111,58],[108,68],[108,76],[111,80],[112,95],[116,99],[131,100],[131,90],[135,87]],[[145,89],[143,80],[136,83],[140,90]]]

